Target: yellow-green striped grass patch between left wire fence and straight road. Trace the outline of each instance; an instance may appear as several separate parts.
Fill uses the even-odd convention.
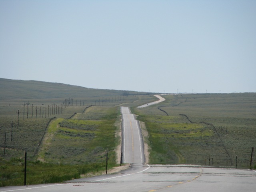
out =
[[[83,164],[104,162],[104,154],[110,151],[116,161],[114,148],[117,145],[114,126],[119,114],[118,107],[92,106],[92,111],[100,110],[101,114],[90,120],[77,119],[83,114],[74,116],[75,119],[57,118],[46,133],[39,159],[61,164]],[[93,109],[96,108],[96,109]],[[90,110],[84,113],[84,116]]]

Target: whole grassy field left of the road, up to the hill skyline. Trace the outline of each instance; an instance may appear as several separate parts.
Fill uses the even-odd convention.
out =
[[[120,106],[145,92],[0,78],[0,186],[54,183],[117,166]]]

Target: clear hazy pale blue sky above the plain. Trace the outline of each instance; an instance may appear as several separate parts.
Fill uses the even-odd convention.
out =
[[[0,78],[256,92],[256,0],[0,0]]]

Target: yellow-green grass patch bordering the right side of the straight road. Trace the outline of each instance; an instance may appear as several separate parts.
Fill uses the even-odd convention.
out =
[[[172,122],[173,119],[175,119],[175,123]],[[150,163],[152,164],[198,164],[194,160],[195,156],[204,160],[205,156],[209,155],[208,148],[202,147],[205,140],[216,139],[211,128],[202,124],[184,122],[186,120],[180,116],[166,116],[164,118],[140,116],[140,120],[146,123],[149,132],[148,140],[152,148]],[[192,152],[197,154],[192,156]],[[204,153],[204,155],[200,153]]]

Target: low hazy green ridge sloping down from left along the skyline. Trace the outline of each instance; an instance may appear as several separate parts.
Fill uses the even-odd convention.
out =
[[[0,99],[50,99],[83,98],[93,96],[118,96],[123,94],[147,94],[146,92],[104,90],[85,88],[63,83],[51,83],[35,80],[11,80],[0,78]]]

